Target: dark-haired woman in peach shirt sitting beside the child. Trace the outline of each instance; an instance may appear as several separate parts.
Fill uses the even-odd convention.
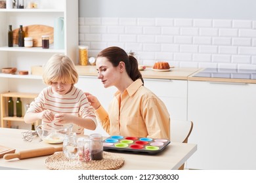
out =
[[[144,87],[137,59],[113,46],[98,54],[96,69],[104,88],[117,88],[108,112],[95,96],[85,93],[109,135],[170,139],[167,108],[154,93]]]

